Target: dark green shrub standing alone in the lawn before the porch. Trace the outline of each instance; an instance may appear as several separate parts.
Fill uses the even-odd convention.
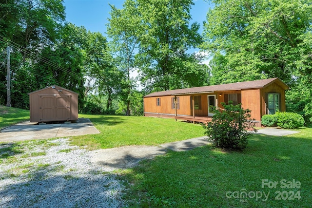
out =
[[[230,148],[243,150],[247,147],[248,137],[252,133],[254,119],[251,111],[242,109],[241,104],[236,106],[222,103],[224,111],[217,111],[211,122],[203,125],[209,141],[217,148]]]

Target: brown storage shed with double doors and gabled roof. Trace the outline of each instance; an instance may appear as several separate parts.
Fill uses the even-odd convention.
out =
[[[78,93],[53,85],[29,95],[30,122],[78,119]]]

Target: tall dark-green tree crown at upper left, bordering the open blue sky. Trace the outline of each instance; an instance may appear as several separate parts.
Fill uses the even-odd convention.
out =
[[[62,0],[17,0],[20,5],[20,33],[15,39],[25,49],[40,50],[58,38],[59,28],[65,20]],[[25,63],[27,52],[23,51]]]

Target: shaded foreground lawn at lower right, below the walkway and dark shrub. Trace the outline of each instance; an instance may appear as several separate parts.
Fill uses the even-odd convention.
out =
[[[130,207],[312,207],[312,129],[289,136],[256,134],[242,152],[211,146],[174,152],[121,171],[129,182],[125,193]],[[276,189],[262,188],[262,179],[277,181]],[[281,188],[280,181],[301,182]],[[227,191],[269,193],[267,201],[228,198]],[[300,191],[301,199],[277,200],[276,191]]]

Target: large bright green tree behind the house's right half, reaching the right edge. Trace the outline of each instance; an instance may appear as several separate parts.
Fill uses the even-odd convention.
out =
[[[279,77],[292,89],[287,93],[288,109],[311,116],[312,1],[212,2],[215,7],[208,11],[201,45],[214,55],[212,83]],[[293,105],[298,99],[305,107]]]

